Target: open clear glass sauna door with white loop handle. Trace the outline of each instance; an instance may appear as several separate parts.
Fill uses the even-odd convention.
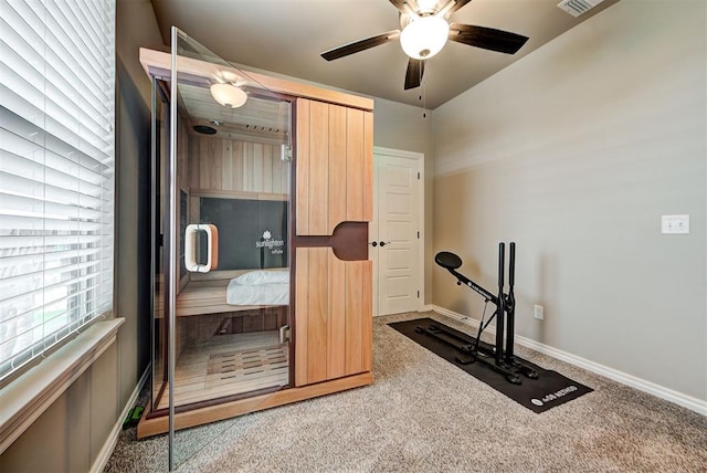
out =
[[[291,383],[291,102],[177,29],[172,67],[160,400],[170,467],[229,425],[180,430],[184,413],[253,411]]]

